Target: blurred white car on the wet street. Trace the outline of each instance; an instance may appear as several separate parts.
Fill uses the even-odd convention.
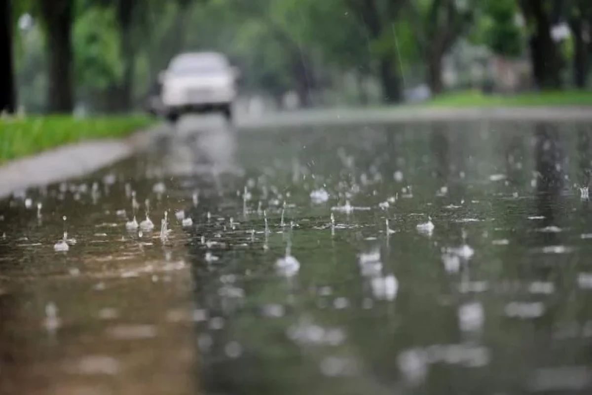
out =
[[[220,53],[182,53],[160,72],[160,108],[175,122],[186,113],[220,111],[232,119],[238,70]]]

